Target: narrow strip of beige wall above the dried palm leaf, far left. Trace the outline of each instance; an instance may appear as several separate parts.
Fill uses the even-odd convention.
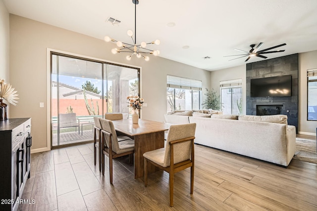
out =
[[[9,80],[9,12],[0,0],[0,78]]]

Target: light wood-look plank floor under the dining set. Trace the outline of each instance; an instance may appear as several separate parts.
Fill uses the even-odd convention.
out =
[[[114,162],[110,185],[108,171],[102,176],[94,166],[93,144],[31,156],[22,198],[35,204],[21,204],[23,211],[317,211],[317,164],[295,159],[283,168],[195,145],[194,193],[189,194],[189,169],[176,173],[170,208],[167,173],[149,175],[145,188],[123,158]]]

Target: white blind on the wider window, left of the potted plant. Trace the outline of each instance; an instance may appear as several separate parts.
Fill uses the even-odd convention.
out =
[[[167,87],[202,90],[202,81],[173,75],[167,75]]]

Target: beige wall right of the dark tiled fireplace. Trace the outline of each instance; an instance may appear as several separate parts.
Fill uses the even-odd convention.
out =
[[[317,68],[317,51],[299,53],[298,66],[298,131],[301,134],[316,134],[317,121],[307,121],[307,70]]]

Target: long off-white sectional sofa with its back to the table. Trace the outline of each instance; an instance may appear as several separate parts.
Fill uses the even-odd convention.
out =
[[[231,119],[230,119],[231,118]],[[286,115],[167,115],[167,123],[196,123],[195,143],[288,166],[295,154],[295,126]]]

